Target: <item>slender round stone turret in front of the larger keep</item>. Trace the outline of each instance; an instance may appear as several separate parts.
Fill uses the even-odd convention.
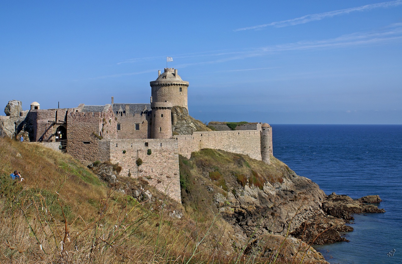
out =
[[[172,117],[170,102],[152,102],[152,128],[151,138],[172,137]]]

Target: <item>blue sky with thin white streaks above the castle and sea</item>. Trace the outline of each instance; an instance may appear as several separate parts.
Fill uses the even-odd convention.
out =
[[[149,102],[201,121],[402,124],[402,0],[1,1],[0,106]]]

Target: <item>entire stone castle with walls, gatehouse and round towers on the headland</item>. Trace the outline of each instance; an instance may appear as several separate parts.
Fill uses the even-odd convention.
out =
[[[190,158],[191,152],[212,148],[270,163],[272,128],[267,123],[248,123],[232,130],[214,122],[210,126],[216,131],[172,133],[172,108],[188,115],[189,82],[180,78],[177,69],[165,68],[150,86],[150,103],[144,104],[115,103],[112,97],[111,104],[76,108],[40,109],[33,102],[30,110],[23,111],[21,102],[12,100],[4,110],[7,116],[0,116],[0,135],[25,135],[84,164],[118,162],[121,175],[146,177],[177,201],[181,200],[179,154]]]

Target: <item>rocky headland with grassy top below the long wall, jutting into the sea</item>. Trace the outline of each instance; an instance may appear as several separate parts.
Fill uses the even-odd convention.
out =
[[[304,242],[346,241],[343,232],[353,231],[345,225],[351,214],[384,212],[346,195],[327,197],[316,183],[296,175],[273,156],[271,164],[265,164],[248,156],[203,149],[193,152],[189,160],[180,157],[180,181],[183,204],[213,204],[234,229],[234,245],[241,248],[252,239],[255,245],[269,248],[268,254],[283,250],[282,243],[275,249],[272,241],[287,239],[288,247],[294,247],[283,256],[292,258],[297,258]],[[369,200],[377,201],[376,197]],[[311,261],[324,261],[314,249],[310,253]]]

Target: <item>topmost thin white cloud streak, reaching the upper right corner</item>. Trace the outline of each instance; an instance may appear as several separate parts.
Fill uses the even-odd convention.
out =
[[[382,3],[377,3],[377,4],[367,4],[364,6],[357,6],[357,7],[352,7],[352,8],[346,8],[346,9],[341,9],[341,10],[319,13],[319,14],[305,15],[303,17],[297,17],[295,19],[276,21],[276,22],[263,24],[263,25],[256,25],[256,26],[252,26],[252,27],[242,27],[239,29],[234,29],[234,31],[260,29],[263,27],[288,27],[288,26],[294,26],[294,25],[308,23],[311,21],[317,21],[317,20],[328,18],[328,17],[346,15],[346,14],[349,14],[352,12],[368,11],[368,10],[372,10],[375,8],[387,8],[387,7],[392,7],[392,6],[399,6],[401,4],[402,4],[402,0],[382,2]]]

